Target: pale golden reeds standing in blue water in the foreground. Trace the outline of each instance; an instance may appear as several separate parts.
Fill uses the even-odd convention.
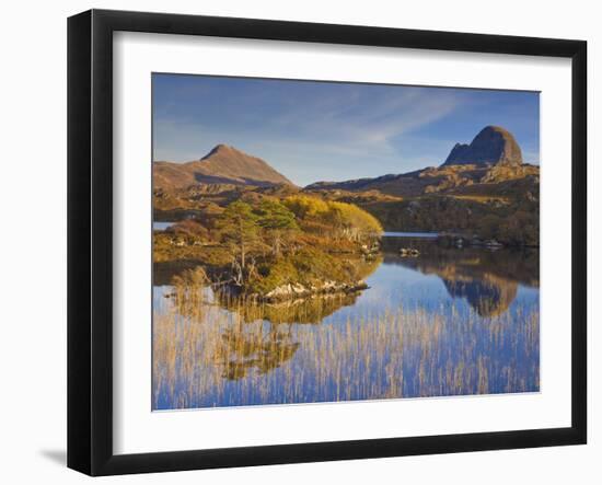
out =
[[[227,310],[210,298],[186,303],[185,312],[183,303],[176,297],[154,312],[154,409],[533,392],[540,385],[536,310],[482,317],[450,303],[312,325],[252,320],[274,309]]]

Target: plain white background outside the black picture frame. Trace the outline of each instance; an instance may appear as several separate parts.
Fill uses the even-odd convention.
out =
[[[221,0],[12,1],[0,28],[0,480],[9,484],[88,482],[66,453],[66,19],[89,8],[170,11],[309,22],[582,38],[589,42],[590,221],[602,212],[594,184],[602,102],[601,12],[587,0],[297,2]],[[597,135],[598,134],[598,135]],[[568,161],[567,161],[568,163]],[[601,188],[602,189],[602,188]],[[569,195],[566,197],[567,203]],[[590,246],[601,227],[591,227]],[[602,481],[602,332],[599,255],[590,250],[590,444],[583,447],[362,460],[112,477],[103,483],[508,484]],[[593,272],[598,272],[592,277]]]

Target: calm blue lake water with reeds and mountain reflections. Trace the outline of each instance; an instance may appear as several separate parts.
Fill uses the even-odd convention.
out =
[[[539,391],[537,251],[385,233],[370,270],[359,293],[277,307],[175,298],[155,272],[153,408]]]

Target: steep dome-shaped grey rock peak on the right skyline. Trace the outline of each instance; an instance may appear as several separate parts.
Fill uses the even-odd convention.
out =
[[[508,130],[486,126],[471,145],[455,143],[442,166],[466,164],[519,166],[522,152]]]

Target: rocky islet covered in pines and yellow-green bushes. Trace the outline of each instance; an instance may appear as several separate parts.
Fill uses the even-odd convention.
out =
[[[360,288],[381,232],[351,204],[245,193],[211,217],[155,232],[153,253],[157,263],[194,262],[241,297],[292,298]]]

